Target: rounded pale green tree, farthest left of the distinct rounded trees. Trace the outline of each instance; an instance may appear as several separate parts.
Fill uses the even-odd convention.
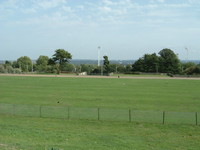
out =
[[[22,72],[28,72],[32,70],[32,61],[28,56],[22,56],[18,58],[17,64]]]

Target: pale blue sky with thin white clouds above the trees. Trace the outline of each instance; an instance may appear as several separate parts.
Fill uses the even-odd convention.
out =
[[[200,60],[200,0],[0,0],[0,60],[136,60],[172,49]]]

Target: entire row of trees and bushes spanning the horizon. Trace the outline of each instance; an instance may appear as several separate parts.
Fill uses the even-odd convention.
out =
[[[33,63],[28,56],[22,56],[14,62],[5,61],[0,65],[0,73],[79,73],[104,74],[126,73],[138,74],[144,73],[168,73],[168,74],[200,74],[200,65],[192,62],[182,63],[178,55],[173,50],[162,49],[158,55],[144,54],[143,57],[136,60],[133,64],[110,64],[108,56],[103,56],[103,64],[97,65],[73,65],[70,64],[71,53],[64,49],[57,49],[51,58],[48,56],[39,56],[36,63]]]

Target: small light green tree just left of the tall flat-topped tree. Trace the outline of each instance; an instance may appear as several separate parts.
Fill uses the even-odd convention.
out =
[[[36,60],[36,70],[38,72],[46,72],[48,68],[48,63],[48,56],[39,56],[39,58]]]

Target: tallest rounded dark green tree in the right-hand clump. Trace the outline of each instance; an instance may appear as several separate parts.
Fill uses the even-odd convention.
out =
[[[171,49],[163,49],[159,53],[160,71],[165,73],[180,73],[181,63],[178,56]]]

